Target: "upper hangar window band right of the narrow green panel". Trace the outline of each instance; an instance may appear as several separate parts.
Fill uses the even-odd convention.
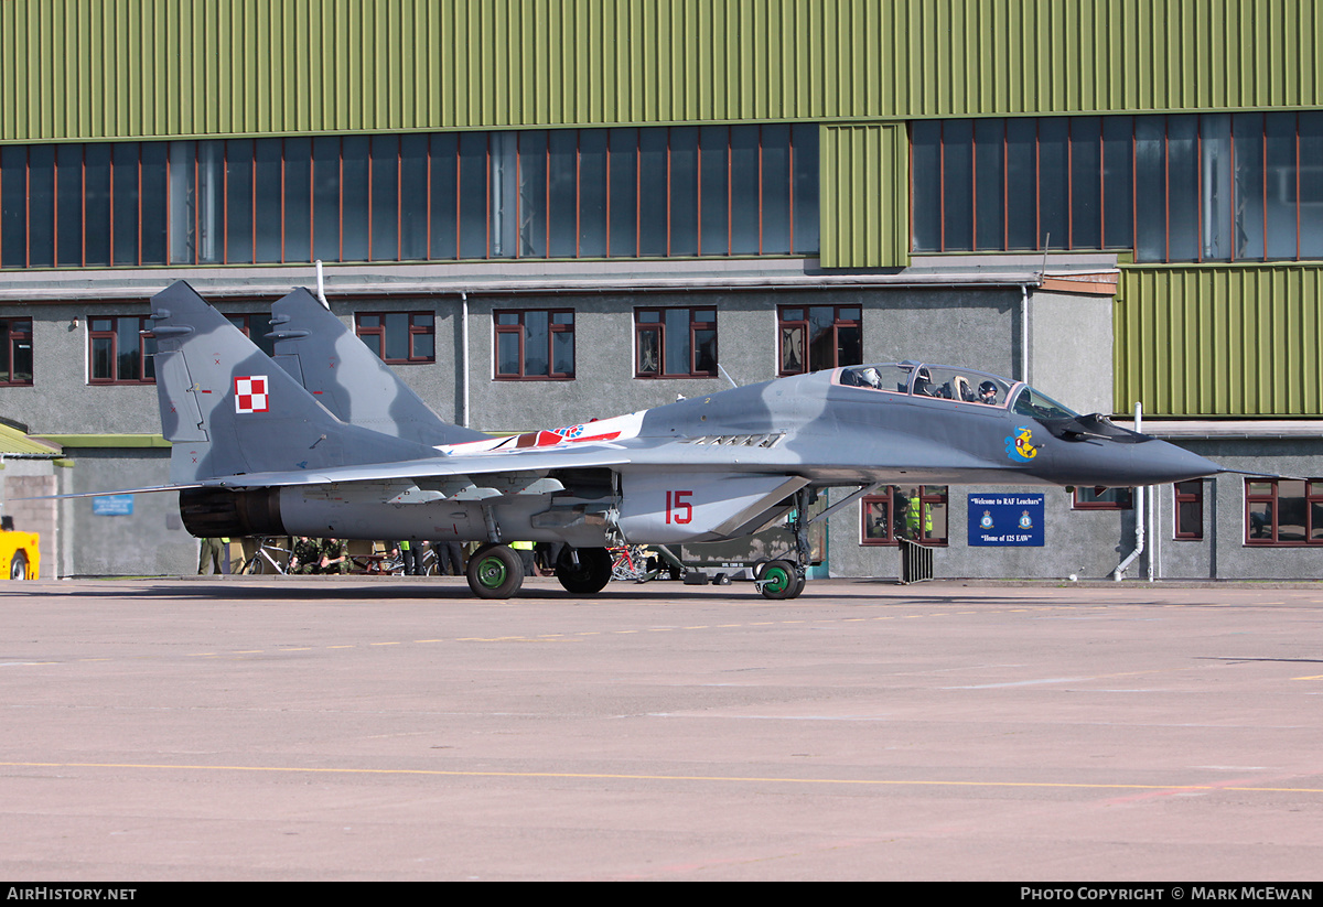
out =
[[[916,251],[1323,256],[1323,111],[917,122]]]

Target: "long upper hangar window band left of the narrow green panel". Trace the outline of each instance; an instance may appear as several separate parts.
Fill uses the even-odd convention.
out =
[[[818,124],[0,148],[0,267],[812,255]]]

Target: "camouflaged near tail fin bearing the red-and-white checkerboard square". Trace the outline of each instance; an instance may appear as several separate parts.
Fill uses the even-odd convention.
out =
[[[183,280],[152,297],[152,321],[176,484],[435,455],[340,422]]]

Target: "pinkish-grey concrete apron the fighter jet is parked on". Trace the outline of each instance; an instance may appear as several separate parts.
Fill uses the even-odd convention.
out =
[[[0,875],[1290,881],[1323,586],[0,586]]]

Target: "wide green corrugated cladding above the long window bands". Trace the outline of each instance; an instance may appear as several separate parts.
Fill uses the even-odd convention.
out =
[[[4,0],[0,141],[1316,107],[1294,0]]]

